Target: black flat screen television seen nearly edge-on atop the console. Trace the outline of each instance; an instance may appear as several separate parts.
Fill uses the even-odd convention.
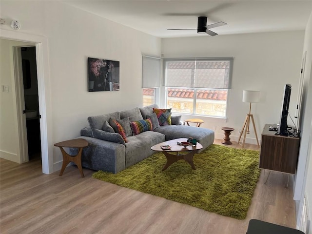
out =
[[[288,136],[287,117],[288,117],[289,102],[291,99],[291,91],[292,91],[292,85],[285,84],[284,96],[283,96],[283,102],[282,102],[282,110],[281,110],[281,118],[279,121],[279,135],[282,135],[282,136]]]

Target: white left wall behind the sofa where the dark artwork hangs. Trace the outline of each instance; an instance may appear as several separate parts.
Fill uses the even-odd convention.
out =
[[[46,105],[52,113],[47,124],[52,131],[48,147],[53,149],[54,170],[62,161],[54,143],[78,137],[88,116],[142,105],[141,54],[160,56],[159,38],[60,1],[1,1],[0,13],[7,22],[19,20],[19,32],[48,40],[48,54],[43,56],[49,61],[44,69],[49,70],[46,85],[52,94]],[[13,31],[8,23],[1,30]],[[120,62],[120,91],[88,92],[88,57]],[[16,106],[7,108],[12,111]]]

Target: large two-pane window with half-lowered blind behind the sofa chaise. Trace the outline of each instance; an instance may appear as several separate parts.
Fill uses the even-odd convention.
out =
[[[167,108],[173,112],[226,117],[232,58],[164,59]]]

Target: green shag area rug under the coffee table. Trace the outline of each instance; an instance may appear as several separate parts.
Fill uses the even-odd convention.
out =
[[[94,178],[164,197],[219,215],[245,219],[258,181],[259,152],[211,145],[193,161],[179,160],[161,171],[166,157],[157,152],[117,173],[98,171]]]

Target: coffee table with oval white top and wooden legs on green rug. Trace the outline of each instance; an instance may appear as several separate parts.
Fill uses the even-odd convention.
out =
[[[183,145],[178,145],[176,143],[176,142],[182,142],[182,141],[187,141],[187,138],[178,138],[178,139],[168,140],[168,141],[156,144],[156,145],[151,147],[151,150],[161,151],[167,158],[167,163],[163,167],[162,171],[166,170],[171,164],[173,164],[174,162],[181,160],[181,159],[188,162],[194,170],[196,169],[194,166],[194,163],[193,163],[193,157],[194,157],[196,151],[201,150],[203,148],[203,146],[201,144],[199,144],[198,142],[196,143],[195,146],[193,146],[191,143],[187,147],[184,147]],[[170,150],[163,150],[160,147],[162,145],[169,145],[171,147],[171,149]],[[181,152],[189,152],[189,153],[182,155],[182,154],[179,154]]]

